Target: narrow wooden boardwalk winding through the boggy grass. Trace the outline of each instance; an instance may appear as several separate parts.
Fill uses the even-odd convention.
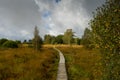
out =
[[[57,80],[67,80],[67,72],[66,72],[66,68],[65,68],[65,58],[64,58],[64,55],[57,48],[54,48],[54,49],[59,52],[59,56],[60,56]]]

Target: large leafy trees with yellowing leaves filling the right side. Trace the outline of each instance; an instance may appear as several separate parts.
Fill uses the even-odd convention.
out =
[[[107,0],[96,9],[82,44],[102,55],[102,80],[120,80],[120,0]]]

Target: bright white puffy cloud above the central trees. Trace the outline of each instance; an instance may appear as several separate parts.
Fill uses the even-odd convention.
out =
[[[46,2],[35,0],[40,13],[51,12],[51,15],[44,19],[45,24],[48,24],[50,28],[49,33],[58,35],[71,28],[74,32],[77,32],[78,36],[81,36],[84,28],[88,27],[89,21],[86,9],[82,6],[83,0],[61,0],[59,3],[53,1],[50,3],[49,0],[46,0]]]

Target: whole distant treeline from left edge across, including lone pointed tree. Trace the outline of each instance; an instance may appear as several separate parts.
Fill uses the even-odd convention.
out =
[[[43,44],[67,44],[67,45],[80,45],[81,39],[75,37],[72,29],[67,29],[63,35],[52,36],[50,34],[46,34],[44,39],[39,36],[39,31],[37,26],[34,30],[34,38],[29,40],[24,40],[23,42],[20,40],[8,40],[8,39],[0,39],[0,48],[18,48],[18,47],[32,47],[35,49],[39,49]]]

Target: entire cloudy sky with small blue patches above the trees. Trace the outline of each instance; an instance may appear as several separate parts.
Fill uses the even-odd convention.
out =
[[[0,0],[0,38],[32,39],[35,26],[39,35],[63,34],[72,29],[81,37],[92,12],[105,0]]]

